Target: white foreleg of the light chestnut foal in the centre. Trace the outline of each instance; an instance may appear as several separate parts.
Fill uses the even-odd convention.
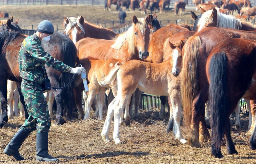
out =
[[[185,143],[187,143],[187,141],[183,138],[182,133],[181,133],[181,128],[180,128],[182,108],[181,108],[181,100],[179,97],[178,90],[172,91],[170,100],[171,100],[171,104],[172,104],[173,118],[174,118],[173,135],[181,143],[185,144]]]

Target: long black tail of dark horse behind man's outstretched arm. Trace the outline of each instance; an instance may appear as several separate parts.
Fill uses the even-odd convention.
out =
[[[76,47],[75,44],[69,39],[62,40],[62,54],[64,54],[63,62],[71,67],[75,67],[76,62]],[[60,76],[60,84],[64,86],[67,84],[73,74],[62,72]],[[72,82],[67,88],[63,89],[63,96],[64,100],[64,117],[68,120],[74,119],[72,118],[75,114],[75,101],[74,101],[74,93],[73,93],[73,86],[74,83]]]

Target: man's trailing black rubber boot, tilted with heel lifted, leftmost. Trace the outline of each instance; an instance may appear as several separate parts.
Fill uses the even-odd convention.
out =
[[[19,148],[29,134],[30,132],[19,128],[17,133],[12,137],[10,143],[5,147],[4,153],[13,156],[17,160],[24,160],[24,158],[19,153]]]

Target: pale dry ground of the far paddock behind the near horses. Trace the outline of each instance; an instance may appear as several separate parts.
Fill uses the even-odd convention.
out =
[[[118,21],[118,11],[115,10],[115,6],[111,6],[112,11],[104,11],[104,6],[75,6],[75,5],[0,5],[0,11],[8,12],[9,16],[13,16],[14,20],[19,18],[19,26],[23,29],[32,29],[31,24],[34,25],[36,29],[38,23],[42,20],[51,21],[54,26],[58,24],[58,29],[63,29],[64,16],[67,17],[77,17],[84,16],[84,18],[93,23],[99,23],[102,26],[112,26],[112,21]],[[190,11],[194,11],[195,7],[190,6],[189,9],[185,10],[185,15],[174,16],[173,8],[166,11],[165,13],[159,14],[158,19],[163,21],[162,25],[170,23],[176,23],[176,20],[182,20],[180,23],[191,23]],[[199,14],[199,12],[196,12]],[[144,17],[141,15],[141,11],[126,11],[125,21],[132,21],[132,17],[136,15],[137,17]],[[185,20],[185,22],[183,21]],[[188,20],[188,21],[187,21]],[[105,24],[106,23],[106,24]],[[24,26],[25,25],[25,26]],[[30,26],[28,26],[30,25]],[[118,22],[114,22],[114,26],[118,26]]]

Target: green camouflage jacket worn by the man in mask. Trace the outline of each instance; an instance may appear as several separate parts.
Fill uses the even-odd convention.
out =
[[[70,66],[44,51],[36,34],[25,38],[19,51],[20,77],[41,84],[45,77],[44,64],[58,71],[70,72],[71,70]]]

